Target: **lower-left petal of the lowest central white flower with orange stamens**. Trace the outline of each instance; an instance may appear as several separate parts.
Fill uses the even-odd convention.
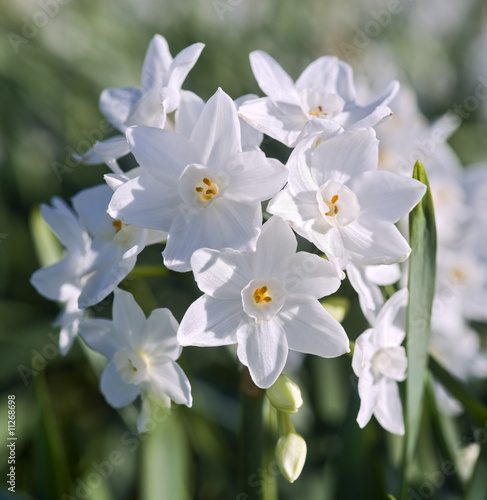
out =
[[[203,295],[189,306],[181,320],[178,342],[200,347],[235,344],[237,327],[244,315],[240,297],[219,300]]]

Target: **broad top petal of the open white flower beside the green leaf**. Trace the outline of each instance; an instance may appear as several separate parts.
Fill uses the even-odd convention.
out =
[[[347,184],[357,175],[377,169],[379,141],[372,129],[345,131],[320,143],[313,152],[311,173],[321,186],[328,180]]]

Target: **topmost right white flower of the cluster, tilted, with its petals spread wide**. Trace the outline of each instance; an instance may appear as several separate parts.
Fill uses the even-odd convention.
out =
[[[286,146],[317,129],[333,135],[345,128],[377,125],[390,116],[387,103],[399,84],[392,82],[375,102],[360,106],[356,102],[352,68],[336,57],[320,57],[311,63],[294,83],[268,54],[250,54],[252,71],[268,97],[244,103],[239,114],[257,130]]]

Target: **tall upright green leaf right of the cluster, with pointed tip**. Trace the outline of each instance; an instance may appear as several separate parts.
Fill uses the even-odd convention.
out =
[[[402,498],[407,498],[407,483],[416,453],[425,375],[430,340],[430,320],[436,275],[436,226],[433,199],[428,177],[418,161],[414,166],[413,178],[426,185],[423,199],[409,215],[409,303],[406,320],[406,350],[408,372],[406,379],[405,404],[405,448]]]

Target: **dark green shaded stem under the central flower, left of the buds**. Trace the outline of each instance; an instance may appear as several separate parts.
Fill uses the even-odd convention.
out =
[[[247,367],[240,375],[239,486],[248,500],[261,500],[264,429],[262,404],[265,390],[257,387]]]

